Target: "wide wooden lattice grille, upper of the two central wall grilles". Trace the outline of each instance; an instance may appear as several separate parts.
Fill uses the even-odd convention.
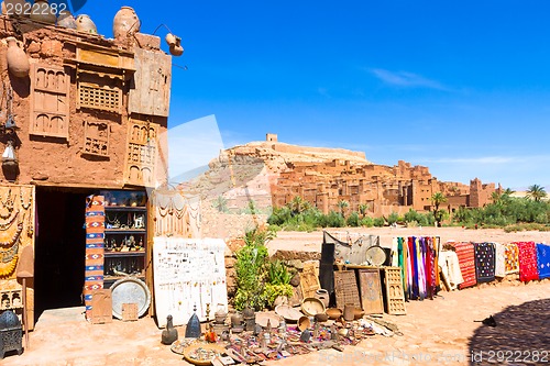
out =
[[[77,108],[99,109],[121,113],[122,89],[108,86],[107,79],[99,82],[78,81]]]

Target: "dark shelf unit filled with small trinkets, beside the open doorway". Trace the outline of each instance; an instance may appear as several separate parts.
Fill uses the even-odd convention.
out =
[[[101,191],[105,214],[105,287],[116,280],[145,276],[146,196],[141,191]]]

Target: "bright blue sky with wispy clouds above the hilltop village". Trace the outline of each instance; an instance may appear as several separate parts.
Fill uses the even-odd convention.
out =
[[[183,38],[172,126],[213,114],[226,147],[272,132],[440,180],[550,188],[548,1],[88,0],[79,13],[110,37],[123,4],[142,32]]]

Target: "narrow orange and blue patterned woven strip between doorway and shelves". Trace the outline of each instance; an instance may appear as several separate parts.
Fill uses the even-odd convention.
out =
[[[105,199],[90,196],[86,206],[86,258],[84,302],[86,318],[91,317],[91,298],[95,290],[103,288]]]

